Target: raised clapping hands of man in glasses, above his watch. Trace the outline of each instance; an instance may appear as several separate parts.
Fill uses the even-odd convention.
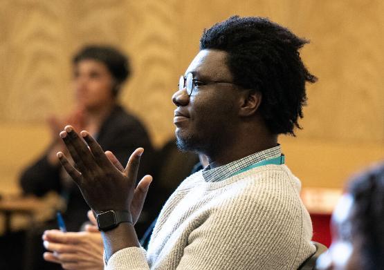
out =
[[[137,148],[129,157],[126,168],[120,171],[121,168],[118,168],[116,162],[109,159],[111,156],[102,151],[100,145],[88,132],[82,131],[80,134],[82,138],[77,135],[72,126],[66,126],[60,133],[77,169],[68,162],[62,152],[57,153],[57,157],[66,172],[79,186],[91,209],[95,213],[108,210],[131,213],[131,206],[134,206],[134,209],[141,211],[143,197],[145,198],[149,183],[152,181],[152,177],[146,175],[138,184],[135,192],[140,156],[144,149]],[[137,193],[136,196],[135,193]]]

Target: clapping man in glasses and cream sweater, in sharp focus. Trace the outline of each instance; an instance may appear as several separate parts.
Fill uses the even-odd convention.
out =
[[[277,144],[300,127],[305,82],[316,81],[298,53],[306,43],[259,17],[203,32],[172,101],[179,148],[206,155],[209,166],[171,195],[147,251],[134,229],[152,181],[135,189],[143,148],[124,169],[88,132],[80,135],[91,151],[64,128],[77,169],[57,156],[98,220],[107,269],[297,269],[315,251],[300,182]]]

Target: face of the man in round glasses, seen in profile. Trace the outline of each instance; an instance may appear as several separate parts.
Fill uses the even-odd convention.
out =
[[[195,86],[188,97],[186,88],[177,91],[172,101],[177,106],[174,124],[179,148],[212,154],[218,147],[230,142],[236,132],[239,90],[232,82],[226,65],[227,53],[219,50],[201,50],[185,71],[203,82]]]

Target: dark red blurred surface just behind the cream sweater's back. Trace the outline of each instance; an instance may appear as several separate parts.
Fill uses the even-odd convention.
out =
[[[331,245],[331,214],[316,214],[309,213],[311,215],[313,226],[312,240],[324,244],[329,247]]]

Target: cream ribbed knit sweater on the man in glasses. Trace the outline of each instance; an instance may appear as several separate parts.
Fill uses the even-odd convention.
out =
[[[194,173],[163,207],[148,251],[122,249],[107,269],[298,269],[315,252],[299,192],[285,165],[220,182]]]

